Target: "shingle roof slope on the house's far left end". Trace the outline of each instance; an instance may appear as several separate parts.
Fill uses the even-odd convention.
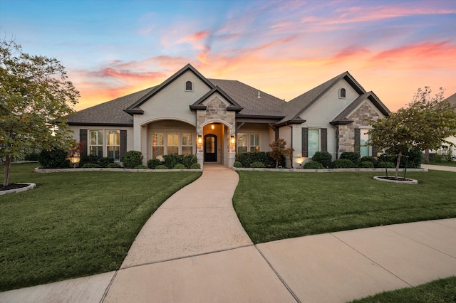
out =
[[[133,94],[88,107],[86,110],[80,110],[76,115],[68,116],[68,124],[133,126],[133,116],[123,110],[154,88],[149,87],[140,92],[133,92]]]

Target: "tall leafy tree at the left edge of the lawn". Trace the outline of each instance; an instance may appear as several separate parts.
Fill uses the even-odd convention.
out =
[[[66,124],[79,92],[54,59],[29,55],[5,38],[0,41],[0,159],[9,184],[11,161],[22,149],[70,149],[74,144]]]

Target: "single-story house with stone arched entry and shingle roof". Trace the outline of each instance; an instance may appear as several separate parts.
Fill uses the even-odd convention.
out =
[[[165,154],[195,154],[198,163],[232,166],[237,153],[269,151],[283,138],[299,167],[316,151],[376,155],[366,119],[390,111],[348,72],[285,102],[236,80],[207,79],[185,65],[165,82],[68,117],[83,154],[119,161],[129,150],[144,163]]]

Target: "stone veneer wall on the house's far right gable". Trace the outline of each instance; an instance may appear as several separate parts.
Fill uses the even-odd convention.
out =
[[[344,151],[355,151],[355,129],[361,126],[366,126],[366,119],[376,120],[380,116],[371,102],[364,102],[361,107],[353,112],[348,119],[353,120],[353,123],[339,125],[339,152],[340,155]]]

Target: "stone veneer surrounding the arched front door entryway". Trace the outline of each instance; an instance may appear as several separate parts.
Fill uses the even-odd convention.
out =
[[[229,127],[229,135],[235,135],[235,122],[236,122],[236,113],[232,111],[227,111],[227,103],[221,100],[219,97],[214,97],[208,102],[204,102],[207,106],[206,110],[197,110],[197,136],[202,135],[202,127],[207,121],[220,121],[227,124]],[[203,152],[202,144],[198,144],[197,152]],[[229,144],[229,152],[235,152],[236,147]]]

